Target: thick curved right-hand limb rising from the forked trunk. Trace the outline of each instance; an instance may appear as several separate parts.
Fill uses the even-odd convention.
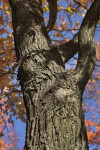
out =
[[[100,0],[95,0],[87,11],[79,31],[79,57],[75,78],[84,90],[96,63],[94,34],[100,16]]]

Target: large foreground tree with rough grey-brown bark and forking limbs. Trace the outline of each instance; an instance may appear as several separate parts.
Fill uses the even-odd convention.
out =
[[[27,111],[24,149],[88,150],[82,94],[95,66],[94,32],[100,1],[95,0],[88,10],[79,34],[59,48],[52,47],[48,37],[40,0],[9,3]],[[75,71],[65,71],[64,62],[78,50]]]

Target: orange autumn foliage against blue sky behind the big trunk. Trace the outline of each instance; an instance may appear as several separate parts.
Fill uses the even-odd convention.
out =
[[[53,30],[49,31],[52,43],[58,45],[73,38],[78,32],[85,13],[93,0],[58,0],[57,20]],[[48,24],[49,6],[42,0],[44,21]],[[86,126],[89,144],[99,149],[100,144],[100,41],[99,24],[96,28],[95,46],[96,67],[84,94],[83,109],[86,114]],[[77,56],[66,64],[73,71]],[[0,0],[0,149],[17,150],[18,135],[14,128],[13,116],[25,122],[25,108],[22,93],[17,80],[16,55],[11,22],[11,10],[7,0]]]

